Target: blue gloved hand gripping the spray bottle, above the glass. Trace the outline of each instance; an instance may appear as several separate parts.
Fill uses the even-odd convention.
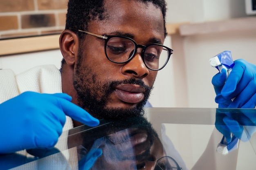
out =
[[[226,71],[222,69],[222,73],[213,76],[212,84],[216,92],[215,102],[219,104],[219,108],[255,108],[256,66],[254,64],[243,59],[236,60],[227,80]]]

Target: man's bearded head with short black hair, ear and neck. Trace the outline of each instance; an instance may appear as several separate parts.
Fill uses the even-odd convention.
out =
[[[148,48],[137,46],[139,48],[135,49],[133,43],[163,44],[166,36],[163,17],[166,11],[165,3],[164,1],[155,1],[155,4],[140,1],[94,3],[92,5],[99,7],[100,10],[94,16],[93,13],[86,16],[83,16],[83,13],[69,13],[74,10],[74,4],[70,4],[72,8],[68,9],[67,20],[75,16],[77,19],[73,19],[73,23],[67,23],[66,30],[60,38],[64,57],[63,93],[71,95],[73,103],[98,119],[119,119],[141,115],[157,75],[157,71],[148,67],[158,69],[158,66],[150,65],[157,61],[153,58],[154,55],[162,51],[161,57],[165,63],[168,59],[168,51],[166,51],[167,47],[156,45]],[[86,8],[87,4],[84,6]],[[128,7],[143,10],[135,12]],[[87,18],[92,20],[89,22]],[[108,39],[99,38],[91,33],[106,35],[105,38]],[[111,37],[114,35],[117,37]],[[135,42],[128,38],[132,38]],[[143,50],[145,52],[142,52]],[[171,52],[170,50],[169,55]],[[144,53],[144,56],[141,53]],[[164,63],[161,63],[161,67]],[[79,123],[74,122],[74,126],[77,125]]]

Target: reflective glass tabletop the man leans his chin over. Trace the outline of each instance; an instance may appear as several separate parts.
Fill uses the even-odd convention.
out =
[[[79,126],[52,150],[0,161],[13,170],[254,169],[255,121],[255,109],[146,108],[144,117]]]

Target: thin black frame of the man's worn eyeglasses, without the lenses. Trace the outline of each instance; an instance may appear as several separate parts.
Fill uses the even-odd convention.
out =
[[[90,32],[87,32],[87,31],[83,31],[83,30],[80,30],[80,29],[70,29],[70,30],[75,30],[75,31],[79,31],[79,32],[83,32],[83,33],[87,33],[89,35],[93,35],[95,37],[98,37],[98,38],[102,38],[105,40],[105,45],[104,45],[104,51],[105,51],[105,55],[106,57],[108,58],[109,61],[113,62],[113,63],[116,63],[116,64],[125,64],[125,63],[128,63],[130,60],[132,60],[132,58],[135,56],[135,54],[137,53],[137,49],[138,48],[141,48],[142,51],[141,51],[141,58],[145,64],[145,66],[150,69],[150,70],[153,70],[153,71],[159,71],[161,70],[162,68],[164,68],[166,66],[166,64],[168,63],[170,57],[171,57],[171,54],[173,54],[173,50],[168,48],[167,46],[164,46],[162,44],[157,44],[157,43],[154,43],[154,44],[148,44],[148,45],[140,45],[140,44],[137,44],[134,40],[132,40],[132,38],[129,38],[129,37],[125,37],[125,36],[121,36],[121,35],[98,35],[98,34],[94,34],[94,33],[90,33]],[[107,55],[107,51],[106,51],[106,47],[107,47],[107,43],[108,43],[108,40],[110,40],[110,38],[113,38],[113,37],[119,37],[119,38],[125,38],[125,39],[128,39],[130,40],[131,42],[133,42],[133,44],[135,45],[135,49],[133,50],[133,53],[132,55],[130,55],[130,57],[128,58],[128,60],[126,60],[125,62],[115,62],[113,60],[110,60],[110,58],[108,57]],[[166,62],[164,63],[164,65],[161,67],[161,68],[158,68],[158,69],[153,69],[153,68],[149,68],[145,62],[145,59],[144,59],[144,52],[145,50],[148,48],[148,46],[153,46],[153,45],[156,45],[156,46],[162,46],[164,48],[166,48],[168,50],[168,58],[166,60]],[[142,57],[143,56],[143,57]]]

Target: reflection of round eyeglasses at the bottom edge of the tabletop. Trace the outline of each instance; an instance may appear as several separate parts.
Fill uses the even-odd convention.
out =
[[[182,170],[172,157],[165,156],[157,160],[154,170]]]

